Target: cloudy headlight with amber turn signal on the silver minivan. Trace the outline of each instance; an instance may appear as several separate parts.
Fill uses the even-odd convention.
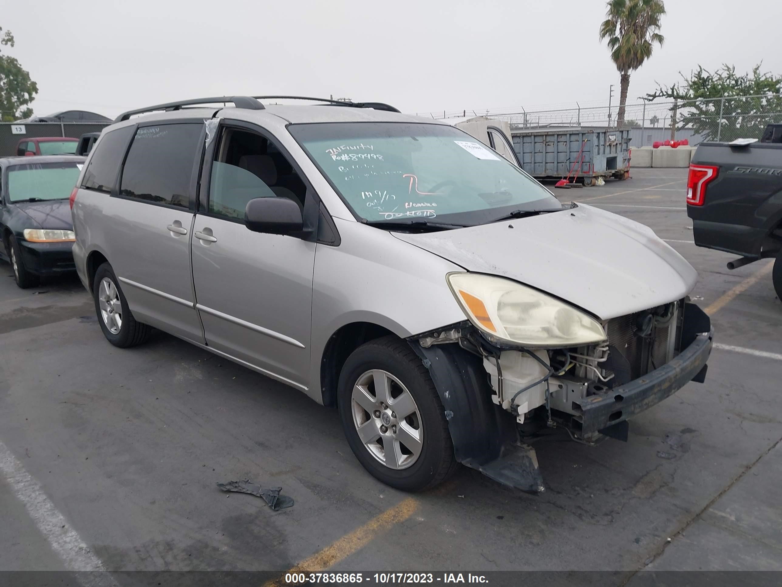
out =
[[[447,279],[461,309],[489,340],[567,348],[607,338],[590,315],[510,279],[479,273],[449,273]]]

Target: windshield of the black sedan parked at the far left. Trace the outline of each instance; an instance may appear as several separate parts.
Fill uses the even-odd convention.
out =
[[[76,185],[83,163],[29,163],[8,169],[8,198],[20,200],[66,200]]]

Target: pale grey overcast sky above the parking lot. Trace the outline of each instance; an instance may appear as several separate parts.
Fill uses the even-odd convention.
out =
[[[2,51],[38,82],[38,115],[114,117],[208,95],[334,95],[411,113],[596,106],[611,84],[619,95],[597,39],[602,0],[3,4],[0,26],[16,47]],[[782,1],[665,7],[665,45],[632,74],[629,102],[698,63],[744,71],[762,60],[782,73]]]

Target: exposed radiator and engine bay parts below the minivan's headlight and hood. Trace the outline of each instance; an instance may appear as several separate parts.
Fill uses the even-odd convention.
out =
[[[582,434],[583,404],[670,362],[680,351],[682,308],[675,301],[605,320],[608,340],[576,348],[497,348],[469,326],[419,342],[425,348],[457,342],[481,355],[492,402],[516,417],[522,434],[541,425],[565,427],[576,440],[593,442],[602,435]],[[621,409],[616,413],[619,420]]]

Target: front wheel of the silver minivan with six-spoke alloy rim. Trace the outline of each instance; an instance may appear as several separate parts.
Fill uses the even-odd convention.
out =
[[[353,351],[339,375],[337,402],[353,454],[383,483],[418,492],[456,470],[443,404],[404,340],[384,337]]]

